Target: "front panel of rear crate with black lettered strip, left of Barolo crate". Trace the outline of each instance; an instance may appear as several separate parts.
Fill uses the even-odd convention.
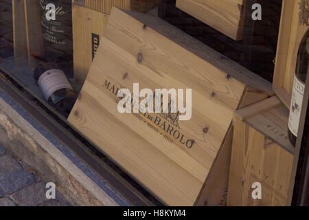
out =
[[[108,15],[72,4],[74,89],[80,91],[98,50]]]

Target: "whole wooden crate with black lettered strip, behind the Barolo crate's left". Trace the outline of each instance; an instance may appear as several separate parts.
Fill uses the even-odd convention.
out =
[[[74,87],[80,91],[98,50],[104,27],[113,6],[123,10],[148,12],[157,0],[75,0],[73,10]]]

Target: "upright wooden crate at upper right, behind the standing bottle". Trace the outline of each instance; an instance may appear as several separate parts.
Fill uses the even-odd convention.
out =
[[[273,90],[288,109],[290,109],[299,44],[308,30],[306,24],[299,22],[300,5],[304,2],[304,0],[284,0],[282,7]]]

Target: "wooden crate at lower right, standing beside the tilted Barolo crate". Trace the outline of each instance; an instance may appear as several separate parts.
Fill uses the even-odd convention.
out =
[[[287,135],[288,109],[277,96],[236,111],[228,206],[290,206],[295,148]],[[252,184],[262,186],[253,199]]]

